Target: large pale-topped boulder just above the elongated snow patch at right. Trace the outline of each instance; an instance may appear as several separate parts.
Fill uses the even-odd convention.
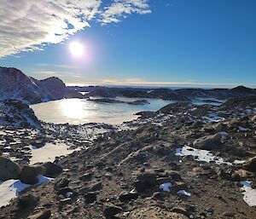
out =
[[[203,136],[193,142],[194,147],[211,150],[221,146],[222,135],[217,133],[215,135]]]

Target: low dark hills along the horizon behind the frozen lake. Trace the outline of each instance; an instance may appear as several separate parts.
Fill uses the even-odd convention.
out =
[[[230,98],[256,95],[255,89],[238,86],[234,89],[148,89],[148,88],[117,88],[103,86],[79,87],[70,89],[86,92],[86,96],[102,96],[113,98],[116,96],[159,98],[172,101],[191,101],[195,98],[216,98],[227,100]]]

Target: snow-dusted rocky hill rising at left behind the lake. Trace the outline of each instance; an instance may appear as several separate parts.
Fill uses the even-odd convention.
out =
[[[37,80],[19,69],[0,67],[0,101],[15,99],[34,104],[73,97],[83,98],[83,95],[68,89],[59,78]]]

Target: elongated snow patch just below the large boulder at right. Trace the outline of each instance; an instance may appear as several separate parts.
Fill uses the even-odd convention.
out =
[[[195,157],[195,160],[197,161],[203,161],[207,163],[214,162],[215,164],[232,165],[230,162],[224,162],[224,158],[214,156],[212,153],[210,153],[207,150],[195,149],[194,147],[189,147],[189,146],[177,148],[175,155],[181,156],[181,157],[192,156],[192,157]]]

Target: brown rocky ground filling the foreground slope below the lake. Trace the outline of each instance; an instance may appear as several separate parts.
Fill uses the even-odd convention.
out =
[[[140,114],[122,127],[95,127],[96,137],[68,124],[2,130],[1,151],[19,157],[9,160],[16,178],[34,186],[0,218],[256,218],[255,96]],[[22,150],[59,140],[80,150],[37,165]],[[38,174],[48,183],[38,185]]]

